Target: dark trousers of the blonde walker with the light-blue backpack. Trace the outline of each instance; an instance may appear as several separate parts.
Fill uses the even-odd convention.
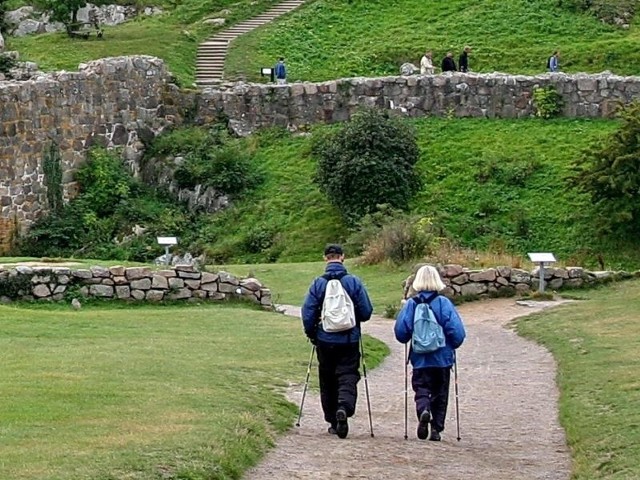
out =
[[[451,367],[429,367],[413,370],[411,386],[416,393],[416,413],[418,419],[423,411],[431,412],[431,428],[438,432],[444,430],[449,404],[449,381]]]

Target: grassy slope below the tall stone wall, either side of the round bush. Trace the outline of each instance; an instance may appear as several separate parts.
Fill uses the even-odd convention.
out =
[[[590,266],[596,254],[610,252],[609,268],[640,264],[633,244],[594,236],[588,199],[566,180],[572,160],[615,122],[430,118],[415,126],[426,186],[413,208],[464,246],[521,255],[551,250],[562,261]],[[208,226],[205,243],[214,258],[265,261],[269,255],[234,252],[269,226],[278,232],[273,250],[281,261],[316,259],[324,243],[344,239],[339,215],[312,183],[309,142],[286,135],[256,142],[267,183]]]

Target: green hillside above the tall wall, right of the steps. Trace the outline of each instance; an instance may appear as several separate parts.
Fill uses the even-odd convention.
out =
[[[539,73],[555,49],[567,72],[640,73],[638,27],[608,27],[556,0],[316,0],[286,20],[234,41],[226,73],[259,81],[259,67],[284,55],[291,80],[395,75],[425,49],[439,65],[472,45],[480,72]],[[389,41],[386,41],[389,39]],[[251,52],[250,55],[248,52]]]

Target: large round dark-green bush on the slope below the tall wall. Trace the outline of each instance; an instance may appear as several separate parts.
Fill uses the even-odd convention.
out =
[[[315,140],[312,153],[314,181],[352,226],[381,204],[406,210],[421,187],[412,127],[378,110],[363,110]]]

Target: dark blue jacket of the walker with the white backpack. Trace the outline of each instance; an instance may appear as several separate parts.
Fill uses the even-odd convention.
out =
[[[341,262],[329,262],[325,269],[325,275],[340,275],[346,273],[347,269]],[[360,341],[360,323],[371,318],[373,306],[367,290],[362,281],[354,275],[345,275],[340,280],[342,288],[347,292],[353,302],[353,310],[356,314],[356,326],[345,332],[325,332],[320,324],[322,313],[322,302],[324,292],[327,289],[327,280],[323,277],[316,278],[302,305],[302,326],[304,333],[312,340],[323,343],[358,343]]]

